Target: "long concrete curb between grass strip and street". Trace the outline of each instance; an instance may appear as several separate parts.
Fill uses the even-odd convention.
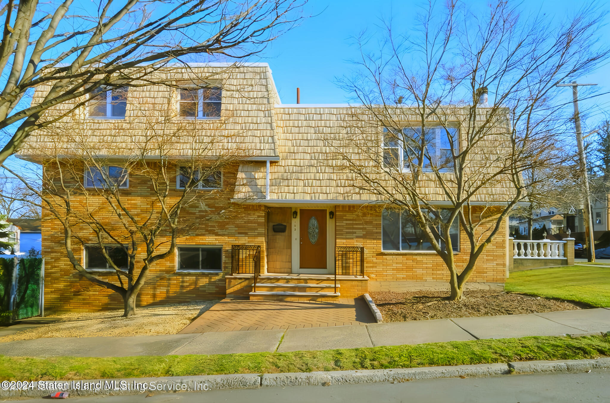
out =
[[[358,371],[318,371],[312,373],[281,374],[229,374],[211,376],[149,377],[125,379],[98,379],[55,382],[59,387],[41,390],[0,390],[2,398],[41,398],[56,391],[67,391],[70,396],[134,395],[140,393],[176,393],[178,391],[205,391],[217,389],[257,389],[262,387],[329,386],[372,382],[407,382],[420,379],[452,377],[489,377],[531,373],[582,373],[591,369],[610,368],[610,357],[592,360],[528,361],[456,366],[427,366],[421,368],[362,369]],[[80,383],[79,383],[80,382]],[[93,388],[83,390],[87,383]],[[66,384],[68,388],[66,388]],[[71,388],[80,385],[79,388]],[[100,390],[95,390],[100,385]],[[114,388],[107,388],[112,385]],[[121,388],[124,385],[124,389]],[[154,389],[152,389],[154,385]],[[161,388],[161,386],[163,388]]]

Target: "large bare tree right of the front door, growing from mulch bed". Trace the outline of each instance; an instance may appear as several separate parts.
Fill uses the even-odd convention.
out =
[[[361,73],[343,86],[363,106],[353,108],[337,152],[357,188],[404,212],[442,258],[452,301],[527,201],[523,173],[558,161],[567,115],[554,85],[607,59],[597,46],[601,18],[586,9],[554,23],[505,1],[473,15],[451,1],[443,10],[430,3],[415,33],[388,24],[379,51],[359,38]],[[468,244],[459,264],[458,223]]]

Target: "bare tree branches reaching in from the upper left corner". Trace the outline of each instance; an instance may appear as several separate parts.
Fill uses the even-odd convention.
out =
[[[305,0],[304,0],[305,1]],[[151,73],[182,57],[242,59],[290,29],[304,1],[294,0],[7,0],[0,5],[0,164],[32,131],[112,88],[146,85]],[[32,99],[34,88],[46,88]],[[48,109],[71,104],[62,115]],[[32,101],[26,102],[26,101]]]

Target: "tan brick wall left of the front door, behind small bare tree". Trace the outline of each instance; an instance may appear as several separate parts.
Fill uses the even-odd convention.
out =
[[[234,189],[236,173],[237,166],[228,166],[223,170],[223,191],[216,197],[204,199],[205,205],[197,203],[185,210],[182,216],[185,226],[188,227],[188,235],[178,238],[177,242],[178,246],[222,246],[222,273],[178,273],[176,254],[172,253],[152,266],[146,283],[138,294],[138,305],[181,303],[224,297],[226,295],[224,276],[231,273],[233,244],[260,245],[262,265],[265,265],[265,207],[231,203],[229,199]],[[149,198],[153,193],[145,184],[145,179],[130,175],[129,189],[124,192],[123,200],[129,210],[140,215],[146,214]],[[178,195],[179,191],[174,192]],[[84,199],[81,201],[84,202]],[[98,201],[102,204],[99,199]],[[101,209],[103,206],[98,208]],[[103,212],[97,213],[103,214]],[[112,219],[111,213],[106,214],[109,220]],[[82,227],[77,227],[75,231],[79,237],[95,243],[93,233]],[[47,312],[123,308],[123,300],[119,294],[91,283],[73,268],[66,257],[63,227],[44,209],[42,238]],[[169,240],[169,237],[159,237],[158,243]],[[143,249],[143,246],[140,246],[140,249]],[[164,250],[163,246],[159,248],[159,251]],[[84,248],[81,245],[74,246],[74,254],[84,260]],[[114,273],[99,273],[96,276],[118,284]]]

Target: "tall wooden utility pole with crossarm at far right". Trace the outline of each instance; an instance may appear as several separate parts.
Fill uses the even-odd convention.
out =
[[[580,169],[583,172],[584,180],[584,197],[583,197],[583,221],[584,221],[584,237],[587,240],[587,260],[595,262],[595,241],[593,236],[593,212],[591,211],[591,201],[589,198],[589,175],[587,174],[587,159],[584,155],[583,132],[580,128],[580,113],[578,112],[578,86],[579,85],[597,85],[597,84],[557,84],[557,87],[572,87],[572,98],[574,103],[574,126],[576,127],[576,143],[578,143],[578,157],[580,160]]]

